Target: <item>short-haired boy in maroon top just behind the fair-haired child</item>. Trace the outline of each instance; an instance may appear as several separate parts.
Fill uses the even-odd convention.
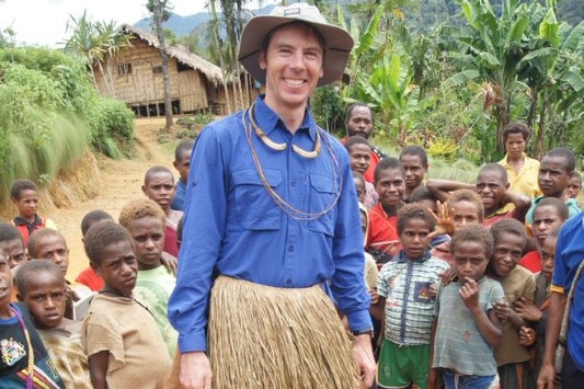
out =
[[[174,258],[179,258],[176,249],[176,224],[183,215],[180,210],[170,207],[174,198],[174,176],[164,167],[152,167],[148,169],[144,176],[142,192],[146,197],[154,201],[167,216],[167,228],[164,230],[164,251]]]

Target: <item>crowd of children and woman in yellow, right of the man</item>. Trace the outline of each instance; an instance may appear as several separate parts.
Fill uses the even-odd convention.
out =
[[[522,140],[519,157],[525,128],[504,131],[508,150]],[[379,161],[367,182],[367,145],[350,137],[345,148],[379,270],[370,308],[379,388],[535,388],[556,239],[580,211],[573,152],[550,150],[534,160],[536,174],[535,162],[524,171],[506,159],[488,163],[467,184],[427,180],[425,150],[409,146]]]

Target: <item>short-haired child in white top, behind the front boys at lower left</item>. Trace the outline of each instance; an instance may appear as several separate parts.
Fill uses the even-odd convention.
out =
[[[69,249],[64,236],[54,229],[45,228],[36,230],[31,234],[28,240],[28,255],[35,260],[49,260],[67,275],[69,270]],[[87,313],[87,299],[93,295],[93,291],[85,285],[67,284],[67,309],[65,317],[67,319],[82,319]]]

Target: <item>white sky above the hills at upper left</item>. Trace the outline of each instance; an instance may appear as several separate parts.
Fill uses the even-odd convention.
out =
[[[16,44],[61,47],[70,15],[87,10],[91,21],[134,24],[147,18],[147,0],[0,0],[0,30],[12,26]],[[170,0],[173,12],[183,16],[205,11],[205,0]],[[264,1],[266,3],[266,1]]]

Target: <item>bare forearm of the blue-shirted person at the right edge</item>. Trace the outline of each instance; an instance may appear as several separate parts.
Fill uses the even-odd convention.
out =
[[[543,345],[543,358],[539,376],[537,377],[537,387],[539,389],[553,389],[556,378],[556,367],[553,357],[558,345],[558,336],[562,325],[563,311],[565,308],[566,296],[563,293],[551,291],[550,306],[548,312],[548,324],[546,329],[546,343]]]

